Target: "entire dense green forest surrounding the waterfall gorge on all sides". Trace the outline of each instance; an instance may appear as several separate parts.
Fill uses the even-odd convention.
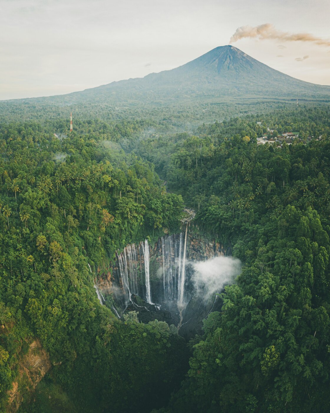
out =
[[[267,128],[299,139],[257,145]],[[193,133],[143,117],[67,129],[0,126],[2,411],[35,337],[52,368],[21,413],[329,411],[329,107]],[[95,276],[127,243],[179,231],[184,204],[244,264],[189,343],[165,322],[118,320],[87,266]]]

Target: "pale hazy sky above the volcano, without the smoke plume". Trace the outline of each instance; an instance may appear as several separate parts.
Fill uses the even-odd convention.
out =
[[[241,26],[330,38],[329,0],[0,0],[0,99],[70,93],[173,69]],[[232,43],[290,76],[330,85],[330,47]]]

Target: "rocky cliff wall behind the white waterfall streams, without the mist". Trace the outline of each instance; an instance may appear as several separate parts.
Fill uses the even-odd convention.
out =
[[[164,235],[150,248],[148,268],[151,303],[157,304],[147,302],[146,268],[142,243],[127,246],[123,253],[117,255],[115,265],[106,268],[103,273],[99,272],[97,287],[105,299],[105,304],[112,309],[115,307],[120,316],[127,311],[138,311],[139,319],[144,323],[157,319],[180,325],[180,333],[186,338],[199,333],[203,318],[211,310],[219,309],[221,304],[215,294],[212,296],[204,294],[203,297],[203,294],[200,296],[196,293],[192,280],[192,264],[225,256],[227,251],[221,244],[201,236],[198,229],[191,228],[186,239],[185,254],[184,302],[186,306],[183,311],[182,308],[180,311],[178,267],[181,265],[182,268],[183,264],[178,261],[180,259],[182,261],[184,238],[185,233]],[[165,277],[164,272],[167,271],[170,271],[170,275]],[[132,274],[134,275],[133,281],[131,280]],[[133,293],[131,301],[127,294],[127,285],[130,287],[130,293]]]

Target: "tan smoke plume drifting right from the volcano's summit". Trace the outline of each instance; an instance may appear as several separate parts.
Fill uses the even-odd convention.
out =
[[[311,42],[320,46],[329,46],[330,40],[316,37],[310,33],[288,33],[280,31],[273,24],[266,23],[260,26],[242,26],[236,29],[236,32],[231,36],[230,43],[237,42],[243,38],[259,38],[260,40],[284,40],[285,42]],[[280,47],[281,48],[281,47]]]

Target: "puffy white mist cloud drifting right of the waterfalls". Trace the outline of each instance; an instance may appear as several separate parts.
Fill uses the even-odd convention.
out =
[[[214,257],[207,261],[191,262],[193,282],[197,292],[212,294],[233,283],[241,272],[242,263],[233,257]]]

